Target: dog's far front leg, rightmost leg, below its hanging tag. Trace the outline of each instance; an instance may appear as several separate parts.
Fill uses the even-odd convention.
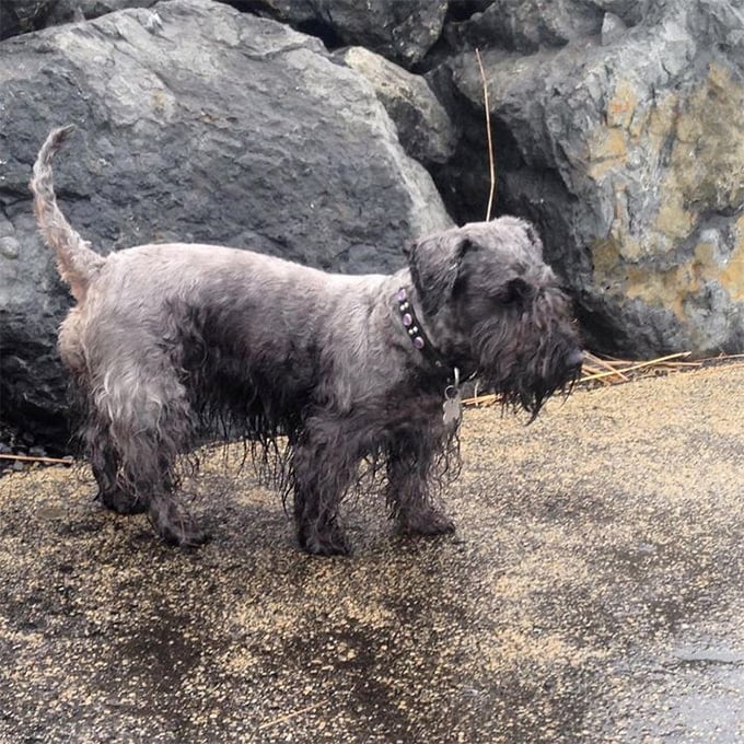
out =
[[[454,532],[454,524],[431,501],[430,475],[437,446],[423,432],[398,433],[387,449],[386,499],[400,532],[442,535]]]

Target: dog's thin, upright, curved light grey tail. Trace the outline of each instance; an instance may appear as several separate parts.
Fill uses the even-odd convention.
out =
[[[90,243],[72,229],[57,206],[51,183],[51,160],[73,130],[74,126],[67,126],[49,132],[34,163],[30,186],[42,235],[55,252],[59,275],[70,286],[72,297],[81,302],[91,277],[104,265],[105,258],[91,251]]]

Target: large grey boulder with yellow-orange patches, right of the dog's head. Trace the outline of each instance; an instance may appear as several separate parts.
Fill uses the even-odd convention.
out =
[[[674,0],[608,46],[483,54],[499,211],[542,226],[595,350],[744,350],[739,8]],[[472,124],[438,183],[464,221],[488,190],[483,83],[472,53],[446,68]]]

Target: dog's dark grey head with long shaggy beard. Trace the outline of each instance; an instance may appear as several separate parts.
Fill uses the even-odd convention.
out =
[[[504,217],[454,228],[408,253],[434,344],[454,364],[536,416],[581,370],[571,303],[532,224]]]

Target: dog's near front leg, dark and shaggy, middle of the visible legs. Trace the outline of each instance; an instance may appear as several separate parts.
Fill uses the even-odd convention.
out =
[[[303,550],[318,556],[348,555],[338,507],[359,463],[357,440],[342,421],[314,417],[294,445],[294,520]]]

